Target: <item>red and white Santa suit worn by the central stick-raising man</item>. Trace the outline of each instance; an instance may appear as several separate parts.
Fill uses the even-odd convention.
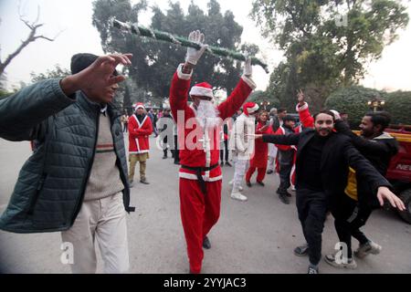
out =
[[[216,224],[220,214],[222,187],[222,173],[218,163],[220,135],[216,128],[205,130],[198,122],[195,122],[194,125],[190,124],[190,121],[195,120],[196,117],[195,108],[187,104],[192,74],[184,74],[182,68],[183,64],[174,73],[170,89],[170,106],[178,127],[180,163],[182,165],[179,172],[180,211],[187,253],[191,271],[199,273],[204,256],[203,240],[212,226]],[[243,76],[227,100],[216,107],[219,117],[222,120],[232,117],[255,87],[250,78]],[[203,91],[194,95],[212,96],[211,89]],[[194,119],[190,120],[192,118]],[[190,121],[185,125],[187,120]],[[195,147],[192,143],[195,144]],[[186,169],[184,166],[195,170]],[[199,168],[212,169],[202,171]],[[202,191],[197,172],[205,182],[206,193]]]

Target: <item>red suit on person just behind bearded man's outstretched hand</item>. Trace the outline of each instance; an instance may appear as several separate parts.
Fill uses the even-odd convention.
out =
[[[271,127],[268,127],[266,130],[261,130],[261,128],[264,127],[265,125],[266,123],[262,123],[261,121],[258,121],[256,134],[272,134]],[[268,143],[265,143],[260,139],[256,140],[255,146],[254,146],[254,154],[251,160],[249,161],[249,168],[246,174],[247,182],[250,181],[251,176],[257,169],[257,173],[258,173],[257,182],[262,183],[262,181],[264,180],[264,177],[266,176],[268,157],[269,157]]]

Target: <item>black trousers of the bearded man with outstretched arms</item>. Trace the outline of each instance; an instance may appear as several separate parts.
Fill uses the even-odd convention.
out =
[[[328,204],[326,193],[297,189],[297,210],[312,265],[318,265],[321,260],[321,234]]]

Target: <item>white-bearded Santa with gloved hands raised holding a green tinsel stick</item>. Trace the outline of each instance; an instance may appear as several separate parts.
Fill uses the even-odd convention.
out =
[[[256,85],[251,79],[251,61],[236,89],[227,100],[215,106],[213,89],[206,82],[190,90],[193,68],[205,49],[205,36],[196,30],[188,36],[199,49],[187,48],[185,63],[174,73],[170,89],[172,115],[178,125],[180,149],[180,213],[184,228],[190,273],[200,273],[203,247],[210,248],[207,237],[220,214],[222,173],[218,164],[219,127],[234,115]],[[188,105],[188,96],[193,100]]]

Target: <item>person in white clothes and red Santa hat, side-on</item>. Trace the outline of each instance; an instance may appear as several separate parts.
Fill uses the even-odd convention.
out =
[[[248,168],[248,162],[254,152],[254,141],[248,138],[249,133],[256,129],[256,116],[258,115],[258,104],[247,102],[243,106],[243,113],[237,118],[231,131],[230,149],[233,151],[234,177],[230,184],[233,185],[231,198],[245,202],[247,196],[240,193],[243,190],[244,175]]]

